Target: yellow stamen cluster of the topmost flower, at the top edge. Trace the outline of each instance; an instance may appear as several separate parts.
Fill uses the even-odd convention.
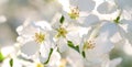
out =
[[[70,8],[70,12],[68,13],[70,19],[78,19],[79,18],[79,9],[78,7],[76,8]]]

